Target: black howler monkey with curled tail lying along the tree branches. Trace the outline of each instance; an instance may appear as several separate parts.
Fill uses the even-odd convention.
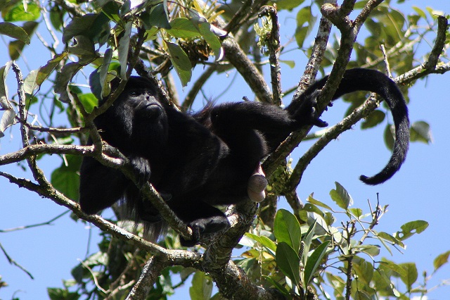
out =
[[[124,91],[108,111],[95,120],[101,137],[129,158],[140,182],[149,180],[167,204],[189,227],[198,243],[200,235],[229,226],[215,205],[248,199],[248,182],[259,162],[290,132],[304,125],[327,124],[316,113],[316,96],[327,77],[315,82],[298,101],[282,109],[258,102],[207,106],[193,115],[160,101],[157,88],[143,77],[130,77]],[[406,103],[397,85],[376,70],[345,72],[334,99],[358,90],[383,96],[394,116],[396,141],[389,163],[369,185],[388,180],[404,162],[409,145]],[[137,220],[160,222],[158,211],[142,201],[139,188],[119,171],[84,157],[80,171],[79,204],[86,213],[123,200]]]

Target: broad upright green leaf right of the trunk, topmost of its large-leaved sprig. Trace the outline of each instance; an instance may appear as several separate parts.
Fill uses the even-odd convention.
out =
[[[278,242],[285,242],[296,252],[299,251],[302,231],[300,223],[290,211],[280,209],[276,212],[274,235]]]

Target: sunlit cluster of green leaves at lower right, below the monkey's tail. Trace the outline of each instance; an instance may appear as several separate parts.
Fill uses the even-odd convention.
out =
[[[413,294],[426,294],[429,278],[418,282],[415,263],[394,263],[378,257],[381,247],[390,254],[391,246],[404,249],[404,241],[423,232],[428,223],[416,220],[402,225],[394,234],[378,232],[374,227],[387,206],[377,205],[370,213],[352,208],[352,197],[338,182],[330,197],[340,210],[310,196],[301,213],[301,225],[292,213],[281,209],[273,232],[262,225],[255,233],[245,235],[240,244],[251,249],[242,254],[239,264],[252,280],[274,287],[288,298],[304,296],[302,292],[311,288],[316,289],[313,294],[323,293],[326,299],[330,293],[333,299],[348,299],[348,295],[353,299],[409,299]],[[347,218],[340,226],[335,225],[338,214]],[[371,240],[375,243],[368,242]],[[438,256],[433,273],[448,263],[448,258],[449,253]]]

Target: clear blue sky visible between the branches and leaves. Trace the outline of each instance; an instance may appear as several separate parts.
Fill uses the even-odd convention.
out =
[[[426,1],[428,6],[450,13],[450,2],[439,0]],[[413,5],[423,7],[423,1],[409,0],[399,6],[401,11]],[[408,8],[410,9],[410,8]],[[288,27],[293,20],[281,23]],[[314,33],[313,33],[314,35]],[[1,49],[5,49],[4,46]],[[425,49],[426,50],[426,49]],[[45,54],[37,57],[33,49],[25,50],[27,64],[30,70],[44,65],[49,59]],[[5,50],[0,50],[0,64],[8,61]],[[295,85],[303,71],[307,58],[300,59],[294,70],[282,65],[283,87]],[[23,61],[19,61],[23,72],[27,68]],[[9,75],[12,77],[12,74]],[[232,80],[221,77],[216,82],[208,82],[205,94],[217,96]],[[11,80],[11,78],[8,78]],[[228,81],[224,81],[228,80]],[[10,81],[11,82],[11,81]],[[252,93],[239,80],[233,90],[226,94],[230,101],[238,101],[242,96],[252,98]],[[217,88],[219,87],[219,88]],[[10,87],[12,94],[14,85]],[[188,90],[188,89],[186,89]],[[421,80],[409,92],[411,121],[425,120],[432,128],[433,143],[411,144],[406,163],[392,180],[383,185],[369,187],[359,182],[361,174],[371,175],[387,162],[390,157],[383,144],[383,126],[371,130],[354,130],[345,132],[336,141],[331,142],[307,169],[302,182],[297,189],[301,199],[306,199],[314,192],[314,197],[327,204],[333,204],[329,191],[338,181],[352,195],[356,207],[368,211],[367,199],[374,204],[376,194],[379,193],[380,204],[389,204],[389,211],[383,216],[378,231],[395,232],[400,226],[411,220],[426,220],[430,223],[425,232],[415,235],[406,241],[407,249],[400,254],[394,251],[394,256],[385,254],[387,258],[396,262],[416,262],[419,275],[426,270],[430,274],[433,270],[433,259],[445,251],[450,250],[447,237],[448,219],[450,214],[449,178],[450,178],[450,133],[448,125],[448,108],[450,95],[450,74],[430,75],[427,80]],[[287,100],[290,97],[287,97]],[[341,120],[347,106],[342,101],[335,101],[333,108],[323,114],[323,120],[334,124]],[[12,135],[12,137],[11,137]],[[0,141],[0,154],[20,149],[20,135],[17,128],[10,136]],[[294,161],[311,146],[311,142],[304,142],[295,150]],[[51,170],[60,165],[58,156],[45,158],[41,167],[49,177]],[[11,172],[19,177],[30,177],[30,173],[15,165],[1,166],[4,172]],[[284,199],[279,202],[280,207],[287,207]],[[63,213],[65,208],[54,204],[49,199],[41,199],[36,194],[11,185],[0,177],[0,229],[19,227],[41,223]],[[94,230],[94,241],[96,233]],[[28,230],[3,233],[0,242],[15,261],[23,265],[34,275],[30,280],[23,271],[10,265],[0,253],[0,275],[8,282],[9,287],[0,289],[0,299],[10,299],[13,294],[20,299],[46,299],[47,287],[62,287],[61,280],[70,279],[70,270],[78,263],[77,259],[86,256],[86,251],[96,251],[95,242],[87,249],[89,230],[82,223],[75,223],[68,215],[56,220],[53,225],[35,227]],[[450,279],[450,265],[445,265],[434,275],[430,285],[439,284],[439,280]],[[185,290],[186,291],[186,290]],[[450,287],[440,287],[430,293],[430,299],[447,299]],[[173,299],[186,299],[183,295]]]

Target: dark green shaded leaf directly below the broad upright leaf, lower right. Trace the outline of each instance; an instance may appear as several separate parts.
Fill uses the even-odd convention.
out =
[[[300,259],[289,244],[279,242],[276,246],[276,265],[295,285],[300,286]]]

